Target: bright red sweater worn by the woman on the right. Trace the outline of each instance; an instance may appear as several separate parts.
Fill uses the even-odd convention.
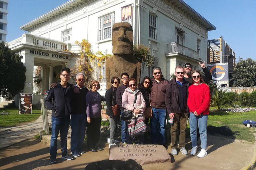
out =
[[[211,102],[210,88],[206,84],[191,85],[188,88],[189,112],[197,112],[198,115],[209,115]]]

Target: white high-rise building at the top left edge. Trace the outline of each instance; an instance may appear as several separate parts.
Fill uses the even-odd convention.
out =
[[[9,0],[0,0],[0,42],[6,42],[8,2]]]

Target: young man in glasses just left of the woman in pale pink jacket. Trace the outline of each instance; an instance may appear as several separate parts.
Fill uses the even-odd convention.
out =
[[[117,89],[116,89],[116,103],[118,104],[120,111],[121,111],[121,115],[124,112],[124,108],[122,107],[122,96],[124,94],[124,90],[127,87],[127,82],[129,80],[129,74],[128,73],[122,73],[121,74],[121,81],[122,81],[122,85],[120,85]],[[122,143],[126,144],[127,143],[127,131],[126,131],[126,122],[121,120],[121,138],[122,138]]]

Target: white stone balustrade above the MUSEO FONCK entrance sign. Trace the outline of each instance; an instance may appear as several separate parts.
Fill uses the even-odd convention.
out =
[[[67,44],[65,42],[56,41],[40,36],[34,36],[32,34],[23,34],[22,37],[8,43],[9,48],[15,47],[20,44],[34,45],[59,51],[64,51],[65,49],[67,49]]]

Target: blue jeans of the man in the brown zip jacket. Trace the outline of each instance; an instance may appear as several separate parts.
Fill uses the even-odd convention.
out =
[[[165,144],[166,109],[152,108],[150,119],[152,144]]]

